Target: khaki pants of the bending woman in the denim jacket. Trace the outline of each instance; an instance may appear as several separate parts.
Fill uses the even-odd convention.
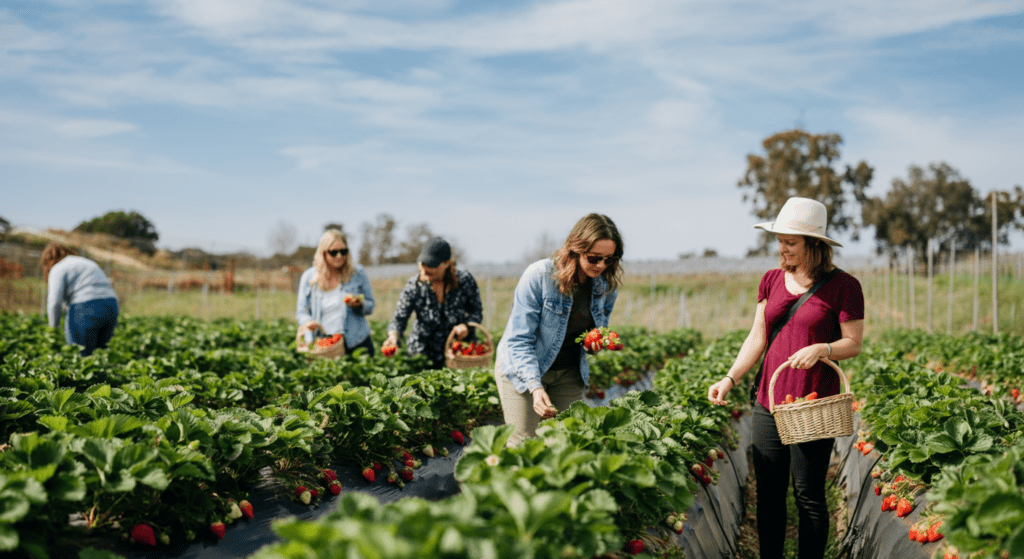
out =
[[[515,446],[526,437],[536,437],[541,416],[534,411],[534,395],[528,391],[516,392],[512,382],[497,364],[495,379],[498,381],[498,395],[502,399],[505,423],[515,426],[507,445]],[[585,388],[579,368],[550,370],[541,377],[541,386],[548,392],[551,404],[559,413],[565,411],[572,402],[582,400]]]

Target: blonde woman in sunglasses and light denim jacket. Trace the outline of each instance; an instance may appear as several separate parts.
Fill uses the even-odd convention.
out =
[[[373,311],[374,290],[362,266],[352,263],[345,233],[324,231],[313,265],[299,278],[295,318],[307,330],[305,343],[311,343],[318,330],[328,336],[341,334],[346,352],[361,347],[373,355],[366,318]]]

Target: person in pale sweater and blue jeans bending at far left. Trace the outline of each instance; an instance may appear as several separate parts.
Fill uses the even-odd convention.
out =
[[[47,245],[39,263],[46,282],[50,326],[58,328],[67,309],[65,339],[69,344],[82,346],[83,356],[106,347],[118,325],[118,296],[99,265],[59,243]]]

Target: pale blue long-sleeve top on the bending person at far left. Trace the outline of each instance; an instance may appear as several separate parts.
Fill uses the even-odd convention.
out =
[[[117,297],[99,264],[81,256],[66,256],[50,268],[46,283],[46,314],[50,326],[56,328],[65,309],[71,305]]]

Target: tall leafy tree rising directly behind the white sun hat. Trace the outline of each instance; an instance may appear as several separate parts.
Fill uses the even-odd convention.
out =
[[[828,210],[828,234],[849,230],[857,240],[861,223],[854,217],[858,212],[848,205],[851,199],[864,203],[874,169],[861,161],[837,170],[841,143],[839,134],[811,134],[799,128],[768,136],[762,142],[763,155],[746,156],[746,172],[737,183],[749,189],[743,202],[754,204],[753,213],[762,221],[771,221],[792,197],[817,200]],[[772,241],[773,235],[765,232],[748,254],[768,254]]]

